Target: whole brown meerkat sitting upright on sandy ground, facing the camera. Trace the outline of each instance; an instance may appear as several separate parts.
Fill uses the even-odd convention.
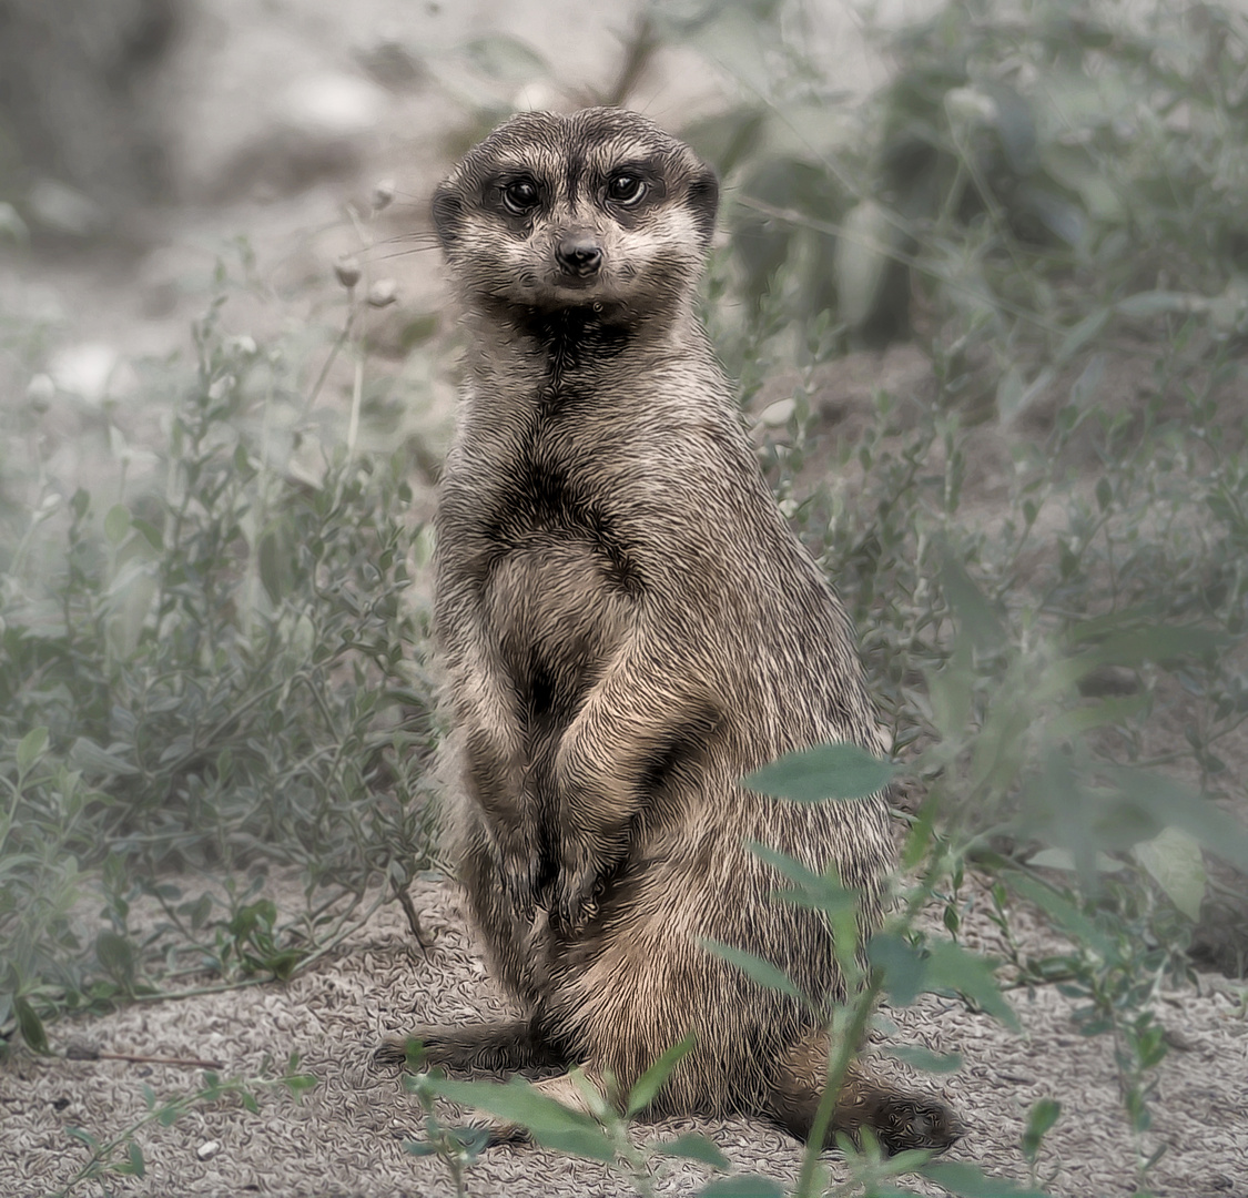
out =
[[[870,927],[886,800],[799,805],[739,779],[817,744],[890,745],[695,312],[718,197],[688,146],[615,109],[512,117],[433,197],[468,333],[436,523],[451,851],[524,1016],[411,1035],[429,1064],[579,1064],[626,1094],[693,1033],[655,1112],[753,1112],[805,1138],[826,1033],[703,943],[844,998],[827,922],[775,902],[782,879],[746,845],[834,865]],[[568,1074],[539,1084],[583,1101]],[[829,1143],[864,1124],[889,1151],[958,1132],[860,1064]]]

